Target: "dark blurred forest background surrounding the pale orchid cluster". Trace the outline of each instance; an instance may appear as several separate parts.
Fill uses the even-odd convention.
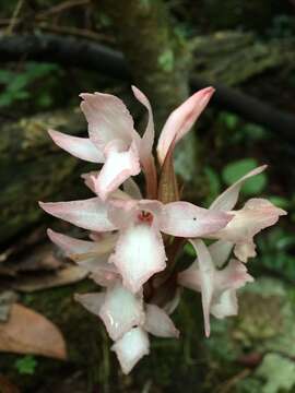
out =
[[[0,385],[11,383],[3,392],[294,392],[294,69],[292,0],[1,1],[0,285],[52,320],[69,348],[66,362],[1,353]],[[216,87],[177,152],[184,199],[206,206],[269,164],[241,199],[266,196],[288,216],[257,237],[248,266],[257,282],[238,318],[214,322],[205,340],[200,299],[186,293],[175,314],[179,342],[154,340],[150,357],[123,377],[102,324],[72,300],[91,283],[32,293],[22,285],[61,267],[46,226],[72,230],[37,201],[88,195],[80,174],[93,168],[58,150],[46,129],[85,135],[79,94],[102,91],[120,96],[141,130],[131,83],[151,99],[157,134],[190,93]],[[191,258],[187,249],[182,259]]]

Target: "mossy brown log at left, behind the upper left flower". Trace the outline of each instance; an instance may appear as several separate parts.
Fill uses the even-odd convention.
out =
[[[79,134],[85,123],[78,111],[61,110],[1,128],[0,245],[40,219],[38,201],[86,193],[79,174],[87,166],[58,148],[47,134],[48,128]]]

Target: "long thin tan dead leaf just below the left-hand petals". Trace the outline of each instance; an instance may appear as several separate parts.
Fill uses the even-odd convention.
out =
[[[44,273],[38,276],[24,276],[12,284],[13,289],[33,293],[63,285],[74,284],[87,276],[87,272],[80,266],[69,266],[55,273]]]

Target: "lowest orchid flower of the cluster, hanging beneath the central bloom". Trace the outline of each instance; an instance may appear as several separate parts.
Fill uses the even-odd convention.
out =
[[[168,314],[156,305],[143,302],[142,294],[132,294],[119,282],[105,293],[76,295],[88,311],[99,317],[115,344],[122,371],[129,373],[150,353],[149,333],[158,337],[178,337]]]

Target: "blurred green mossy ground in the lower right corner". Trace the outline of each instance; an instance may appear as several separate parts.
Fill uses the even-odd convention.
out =
[[[260,278],[239,296],[239,314],[219,321],[212,318],[212,334],[205,342],[215,376],[228,380],[245,369],[237,359],[257,354],[262,361],[257,369],[235,385],[240,393],[276,393],[292,391],[295,356],[295,312],[291,298],[294,289],[280,281]],[[264,356],[266,354],[269,354]],[[275,361],[274,361],[275,360]],[[276,366],[275,366],[276,365]],[[274,370],[272,370],[274,367]],[[284,372],[280,372],[280,368]],[[282,382],[281,376],[288,380]]]

